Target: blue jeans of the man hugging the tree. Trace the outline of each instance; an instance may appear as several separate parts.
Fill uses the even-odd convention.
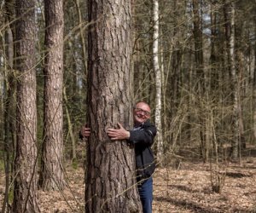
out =
[[[143,204],[143,213],[152,213],[152,201],[153,201],[153,179],[152,176],[142,184],[138,184],[138,192]]]

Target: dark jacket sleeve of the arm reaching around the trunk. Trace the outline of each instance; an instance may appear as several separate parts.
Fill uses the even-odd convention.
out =
[[[156,135],[156,128],[154,125],[145,126],[143,130],[131,130],[128,142],[136,144],[143,143],[151,146]]]

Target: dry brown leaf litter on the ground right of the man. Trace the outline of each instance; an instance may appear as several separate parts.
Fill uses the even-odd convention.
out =
[[[256,212],[256,167],[230,164],[225,169],[222,193],[212,192],[209,164],[157,170],[154,212]]]

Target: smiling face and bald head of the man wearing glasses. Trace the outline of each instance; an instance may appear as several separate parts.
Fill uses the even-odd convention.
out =
[[[150,118],[150,107],[148,104],[139,102],[133,109],[134,124],[143,124]]]

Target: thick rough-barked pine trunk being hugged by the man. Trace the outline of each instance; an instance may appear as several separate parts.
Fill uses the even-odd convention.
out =
[[[131,1],[90,1],[86,212],[141,212],[133,147],[106,130],[132,127]]]

